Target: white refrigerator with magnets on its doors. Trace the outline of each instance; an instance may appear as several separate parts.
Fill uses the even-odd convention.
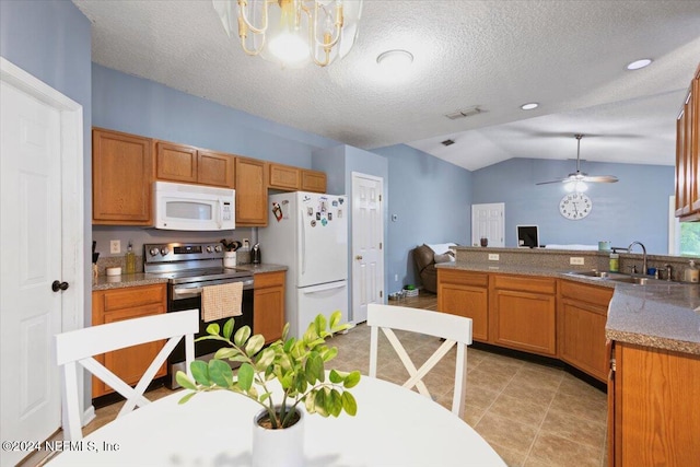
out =
[[[319,313],[348,322],[348,200],[293,191],[269,197],[268,226],[258,230],[265,262],[284,265],[284,317],[300,338]],[[261,311],[264,313],[264,311]]]

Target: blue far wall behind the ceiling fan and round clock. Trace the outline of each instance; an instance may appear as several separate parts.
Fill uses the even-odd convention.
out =
[[[505,246],[517,246],[515,226],[539,225],[540,244],[587,244],[610,241],[627,247],[640,241],[650,254],[668,250],[668,197],[674,167],[586,162],[585,172],[616,175],[615,184],[588,184],[593,200],[587,218],[570,221],[559,213],[565,195],[561,184],[535,185],[572,172],[572,161],[511,159],[475,171],[472,202],[505,203]]]

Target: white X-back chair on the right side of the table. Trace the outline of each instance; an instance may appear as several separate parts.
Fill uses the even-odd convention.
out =
[[[459,418],[464,417],[464,399],[467,385],[467,346],[471,345],[470,318],[428,310],[409,308],[406,306],[370,304],[368,305],[368,326],[372,328],[370,340],[370,376],[376,377],[378,330],[381,328],[410,375],[402,386],[409,389],[417,387],[420,394],[429,398],[431,396],[422,381],[423,376],[456,345],[457,361],[455,365],[455,387],[452,411]],[[445,341],[425,363],[417,370],[393,329],[435,336],[445,339]]]

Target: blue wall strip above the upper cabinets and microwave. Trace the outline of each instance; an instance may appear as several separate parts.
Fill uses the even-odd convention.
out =
[[[93,63],[93,125],[299,167],[337,141]]]

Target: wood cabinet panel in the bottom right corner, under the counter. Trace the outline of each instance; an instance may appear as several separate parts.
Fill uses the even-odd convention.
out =
[[[700,355],[615,342],[608,393],[615,467],[697,466],[700,459]],[[609,395],[609,394],[608,394]]]

